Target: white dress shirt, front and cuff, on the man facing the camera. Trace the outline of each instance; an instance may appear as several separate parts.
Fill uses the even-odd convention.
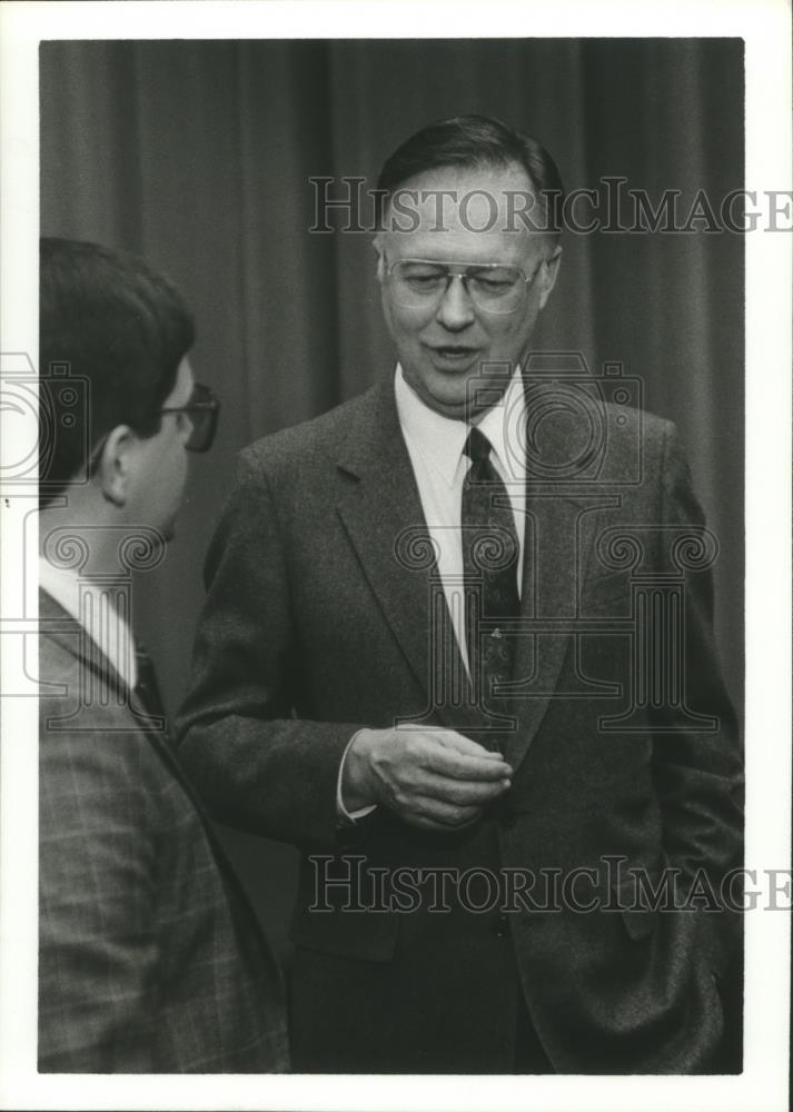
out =
[[[452,618],[460,656],[468,668],[468,651],[465,641],[465,609],[463,606],[463,542],[460,537],[460,509],[463,505],[463,481],[472,460],[463,451],[470,426],[435,413],[418,397],[405,381],[402,367],[397,364],[394,379],[399,427],[410,457],[424,518],[435,544],[435,554],[440,580],[446,596],[446,605]],[[523,390],[521,368],[516,367],[509,386],[500,401],[488,409],[476,421],[477,427],[490,441],[490,461],[504,481],[515,516],[515,528],[519,545],[517,565],[517,589],[521,594],[523,558],[526,535],[526,397]],[[417,523],[418,524],[418,523]],[[358,735],[350,738],[353,744]],[[349,749],[349,745],[347,749]],[[347,757],[345,749],[339,765],[336,788],[336,805],[339,815],[348,820],[360,818],[374,807],[348,812],[341,798],[341,777]]]

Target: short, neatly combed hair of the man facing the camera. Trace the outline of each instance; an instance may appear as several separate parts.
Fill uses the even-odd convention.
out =
[[[551,155],[536,139],[518,135],[487,116],[455,116],[422,128],[386,159],[377,179],[381,224],[388,199],[409,178],[426,170],[449,167],[522,167],[544,206],[539,230],[558,236],[564,200],[562,177]]]

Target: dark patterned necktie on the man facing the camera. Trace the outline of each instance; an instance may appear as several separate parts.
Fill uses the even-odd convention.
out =
[[[472,428],[463,449],[472,465],[463,483],[460,513],[465,633],[477,701],[485,709],[506,713],[502,701],[494,702],[493,687],[512,678],[514,637],[499,627],[499,619],[519,615],[521,548],[509,496],[490,461],[490,448],[484,433]]]

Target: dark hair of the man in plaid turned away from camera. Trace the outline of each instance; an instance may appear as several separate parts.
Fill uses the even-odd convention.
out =
[[[159,431],[156,411],[196,332],[175,287],[135,255],[42,238],[40,265],[40,408],[49,413],[42,413],[39,480],[46,505],[87,473],[91,451],[118,425],[145,437]],[[77,391],[65,389],[67,383]]]

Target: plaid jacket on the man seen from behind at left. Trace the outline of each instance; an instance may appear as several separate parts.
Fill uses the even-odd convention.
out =
[[[40,622],[39,1070],[286,1070],[279,972],[167,736],[43,592]]]

